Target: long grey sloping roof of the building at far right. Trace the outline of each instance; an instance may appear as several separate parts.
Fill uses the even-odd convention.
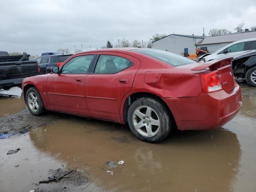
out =
[[[203,40],[196,43],[196,45],[230,43],[230,42],[235,42],[235,41],[250,39],[250,38],[256,38],[256,31],[205,37]]]

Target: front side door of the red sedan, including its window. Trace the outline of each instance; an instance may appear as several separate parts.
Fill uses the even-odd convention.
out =
[[[58,74],[47,79],[49,103],[57,110],[88,114],[84,84],[95,55],[79,55],[71,58]]]

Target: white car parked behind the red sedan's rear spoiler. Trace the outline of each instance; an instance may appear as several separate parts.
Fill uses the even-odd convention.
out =
[[[204,62],[207,62],[214,59],[231,58],[238,54],[253,49],[256,49],[256,38],[244,39],[228,44],[227,46],[220,48],[216,52],[203,57],[202,60]]]

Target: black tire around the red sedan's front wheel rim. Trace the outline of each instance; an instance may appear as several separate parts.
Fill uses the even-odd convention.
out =
[[[37,97],[38,108],[36,111],[35,110],[33,111],[29,104],[28,100],[31,98],[30,94],[34,94]],[[26,92],[26,104],[27,104],[28,110],[32,115],[40,116],[44,113],[44,103],[43,103],[42,97],[35,87],[29,88],[28,91]]]

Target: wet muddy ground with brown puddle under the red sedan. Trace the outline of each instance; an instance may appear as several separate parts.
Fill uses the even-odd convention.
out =
[[[22,97],[2,96],[0,134],[12,135],[0,139],[0,192],[255,192],[256,88],[241,87],[243,106],[221,129],[177,132],[159,144],[141,142],[116,123],[32,116]],[[76,167],[58,182],[38,184]]]

